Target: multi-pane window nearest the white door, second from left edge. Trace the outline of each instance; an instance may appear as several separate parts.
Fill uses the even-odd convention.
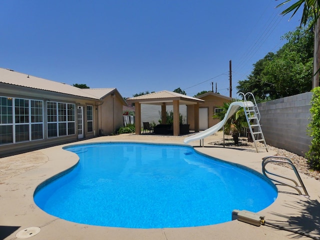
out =
[[[74,134],[74,104],[47,102],[48,137]]]

